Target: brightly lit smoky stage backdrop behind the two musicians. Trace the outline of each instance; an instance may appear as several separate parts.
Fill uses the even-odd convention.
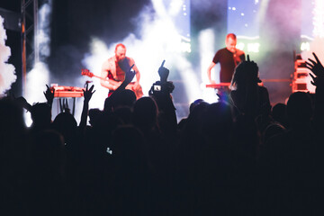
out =
[[[14,66],[16,76],[6,94],[24,95],[29,103],[45,100],[42,92],[46,85],[84,87],[88,81],[96,90],[90,108],[103,109],[108,90],[98,79],[82,76],[81,70],[87,68],[100,76],[103,61],[113,56],[115,45],[121,42],[127,47],[126,55],[139,67],[144,96],[159,79],[157,69],[166,59],[168,79],[175,84],[173,100],[180,121],[188,115],[194,100],[217,101],[216,92],[205,86],[206,70],[216,50],[224,47],[226,34],[234,32],[238,49],[257,62],[260,79],[274,105],[284,103],[293,92],[295,56],[308,58],[311,51],[321,47],[316,37],[322,31],[314,23],[320,17],[314,13],[320,4],[304,0],[31,2],[37,2],[38,29],[28,31],[36,22],[31,19],[35,7],[25,4],[25,47],[22,32],[8,28],[10,17],[16,16],[6,16],[4,23],[5,44],[11,49],[7,63]],[[21,14],[22,2],[6,1],[0,8]],[[218,67],[212,70],[212,76],[219,82]],[[82,106],[78,101],[76,116]]]

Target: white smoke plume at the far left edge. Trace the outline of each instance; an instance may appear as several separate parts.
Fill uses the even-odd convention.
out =
[[[6,63],[11,56],[11,49],[5,46],[6,39],[4,18],[0,16],[0,94],[10,90],[11,85],[17,78],[14,66]]]

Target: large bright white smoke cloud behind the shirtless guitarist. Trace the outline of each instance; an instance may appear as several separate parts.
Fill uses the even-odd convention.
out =
[[[196,77],[199,75],[194,72],[193,65],[185,57],[184,43],[173,20],[175,7],[168,8],[163,1],[152,0],[151,3],[144,6],[139,16],[131,20],[131,23],[137,26],[136,35],[130,33],[127,37],[107,45],[103,40],[93,38],[91,51],[85,54],[83,64],[94,75],[100,76],[103,61],[114,55],[115,45],[121,42],[126,45],[126,56],[134,58],[139,68],[139,83],[144,95],[148,95],[151,85],[159,80],[157,69],[164,59],[166,59],[165,67],[170,69],[169,79],[175,81],[173,76],[179,73],[176,76],[181,76],[180,80],[184,80],[181,85],[184,85],[185,90],[191,90],[190,93],[181,92],[179,87],[175,87],[174,95],[176,91],[179,91],[178,94],[182,94],[183,98],[189,94],[191,97],[199,95],[197,89],[199,89],[200,79]],[[82,80],[85,82],[85,78]],[[97,91],[90,102],[90,107],[103,109],[103,101],[108,94],[108,89],[103,88],[98,79],[94,79],[94,85]],[[194,94],[193,90],[195,90]]]

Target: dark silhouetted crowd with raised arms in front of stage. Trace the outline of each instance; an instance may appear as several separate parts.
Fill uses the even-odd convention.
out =
[[[79,125],[68,109],[51,121],[49,86],[47,103],[0,99],[0,214],[324,215],[324,67],[313,55],[314,95],[272,108],[247,56],[226,100],[197,99],[179,123],[163,64],[161,88],[136,100],[127,71],[103,110],[89,110],[86,85]]]

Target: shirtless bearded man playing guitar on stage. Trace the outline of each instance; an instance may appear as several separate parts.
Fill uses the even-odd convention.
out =
[[[141,97],[143,93],[139,85],[140,74],[134,59],[126,57],[126,47],[122,43],[116,45],[114,53],[115,55],[112,58],[108,58],[103,62],[100,84],[109,89],[108,96],[110,96],[125,79],[125,71],[128,71],[134,65],[132,69],[135,71],[136,81],[126,88],[132,90],[137,98]]]

